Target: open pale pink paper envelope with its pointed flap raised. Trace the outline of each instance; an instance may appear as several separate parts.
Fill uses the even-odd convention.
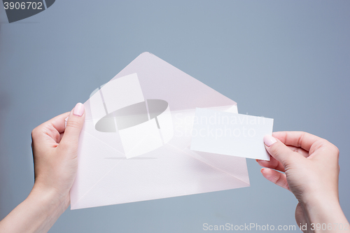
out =
[[[84,104],[71,209],[249,186],[246,159],[190,150],[195,108],[237,104],[144,52]]]

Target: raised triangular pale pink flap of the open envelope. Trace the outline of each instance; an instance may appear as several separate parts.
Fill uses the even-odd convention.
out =
[[[141,53],[112,80],[130,73],[137,73],[145,99],[164,99],[172,111],[236,105],[232,99],[151,52]]]

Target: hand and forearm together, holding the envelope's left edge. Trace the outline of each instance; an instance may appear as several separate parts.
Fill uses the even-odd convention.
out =
[[[58,115],[31,132],[34,187],[27,199],[1,220],[0,232],[47,232],[67,209],[84,120],[84,106],[79,103],[70,113]]]

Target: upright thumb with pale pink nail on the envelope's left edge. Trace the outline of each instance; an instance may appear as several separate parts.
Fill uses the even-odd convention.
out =
[[[66,122],[66,129],[59,147],[62,150],[68,150],[70,153],[76,153],[78,150],[78,141],[80,131],[83,128],[85,120],[85,108],[81,103],[76,104]]]

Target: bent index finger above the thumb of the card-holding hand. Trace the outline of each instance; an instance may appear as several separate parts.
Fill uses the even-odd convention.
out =
[[[274,132],[272,136],[288,146],[300,147],[307,151],[312,144],[321,139],[307,132]]]

